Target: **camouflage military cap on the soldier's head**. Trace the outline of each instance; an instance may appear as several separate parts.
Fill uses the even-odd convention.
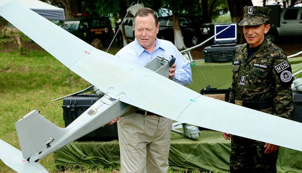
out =
[[[245,6],[244,17],[239,26],[257,26],[269,20],[271,9],[268,7]]]

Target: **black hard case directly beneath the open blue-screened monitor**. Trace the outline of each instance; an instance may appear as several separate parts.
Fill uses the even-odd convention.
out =
[[[218,63],[233,61],[235,52],[240,45],[236,44],[222,44],[211,45],[204,48],[204,62]]]

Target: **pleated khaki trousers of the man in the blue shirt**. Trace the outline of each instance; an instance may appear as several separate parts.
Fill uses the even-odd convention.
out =
[[[172,120],[137,113],[117,121],[121,173],[167,173]]]

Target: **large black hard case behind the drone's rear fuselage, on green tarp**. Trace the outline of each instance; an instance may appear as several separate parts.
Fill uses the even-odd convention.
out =
[[[64,98],[62,108],[65,127],[100,98],[101,97],[95,94],[79,94],[77,96]],[[104,127],[98,128],[77,139],[77,141],[112,141],[117,138],[117,123],[114,123],[113,125],[105,125]]]

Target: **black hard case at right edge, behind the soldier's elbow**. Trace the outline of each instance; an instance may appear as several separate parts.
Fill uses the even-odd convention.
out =
[[[293,99],[294,99],[293,120],[297,122],[302,122],[302,92],[293,91]]]

